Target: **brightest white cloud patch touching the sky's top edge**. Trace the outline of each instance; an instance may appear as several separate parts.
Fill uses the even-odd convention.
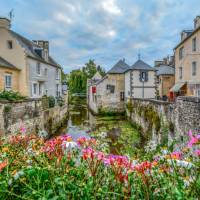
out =
[[[113,15],[121,15],[121,10],[120,8],[117,6],[116,1],[115,0],[104,0],[102,2],[102,8]]]

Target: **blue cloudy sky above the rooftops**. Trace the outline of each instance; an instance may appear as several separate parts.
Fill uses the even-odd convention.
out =
[[[14,9],[12,29],[50,41],[65,72],[90,58],[106,70],[120,58],[133,64],[173,53],[180,31],[193,28],[199,0],[0,0],[0,16]]]

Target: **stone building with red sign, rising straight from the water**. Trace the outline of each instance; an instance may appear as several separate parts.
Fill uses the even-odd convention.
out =
[[[88,106],[95,112],[124,111],[124,73],[129,69],[125,59],[119,60],[100,80],[90,81],[88,85]]]

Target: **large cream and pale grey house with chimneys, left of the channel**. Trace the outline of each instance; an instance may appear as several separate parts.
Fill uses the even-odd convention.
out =
[[[1,67],[1,73],[11,82],[9,89],[31,98],[61,94],[61,67],[49,55],[48,41],[31,41],[12,31],[9,19],[0,18],[0,44],[0,56],[18,69],[4,73],[5,66]],[[0,87],[7,89],[4,83]]]

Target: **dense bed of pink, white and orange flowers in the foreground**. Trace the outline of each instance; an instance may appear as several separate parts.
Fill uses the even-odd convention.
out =
[[[45,141],[20,133],[0,140],[0,199],[198,199],[199,135],[179,151],[128,156],[69,135]]]

